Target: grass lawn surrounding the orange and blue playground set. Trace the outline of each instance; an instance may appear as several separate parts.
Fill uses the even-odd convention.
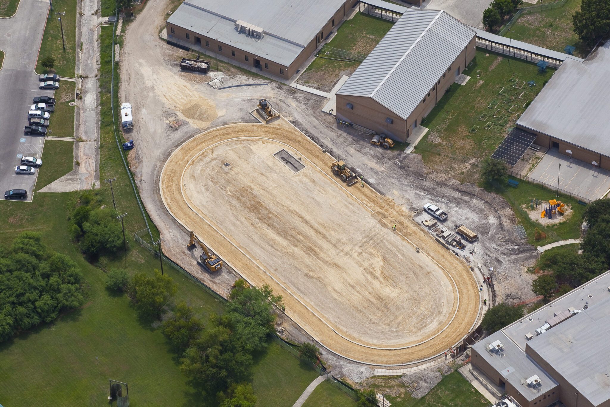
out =
[[[487,190],[498,193],[504,197],[509,204],[511,204],[515,217],[522,223],[525,231],[528,234],[528,243],[534,246],[544,246],[548,243],[557,242],[558,240],[564,239],[579,239],[580,238],[580,227],[583,223],[583,214],[585,206],[578,203],[578,200],[567,195],[560,195],[556,198],[556,191],[548,189],[542,185],[530,184],[529,182],[522,181],[521,179],[513,178],[519,182],[517,188],[509,187],[508,185],[501,185],[500,187],[490,187],[489,185],[483,185]],[[531,200],[538,199],[542,201],[543,208],[544,204],[548,205],[549,200],[558,199],[565,204],[569,204],[572,208],[572,215],[569,220],[565,222],[556,223],[555,225],[542,226],[538,222],[534,222],[525,211],[524,206],[529,209]],[[540,212],[542,209],[539,210]],[[534,240],[534,230],[539,228],[541,231],[547,234],[546,239]]]

